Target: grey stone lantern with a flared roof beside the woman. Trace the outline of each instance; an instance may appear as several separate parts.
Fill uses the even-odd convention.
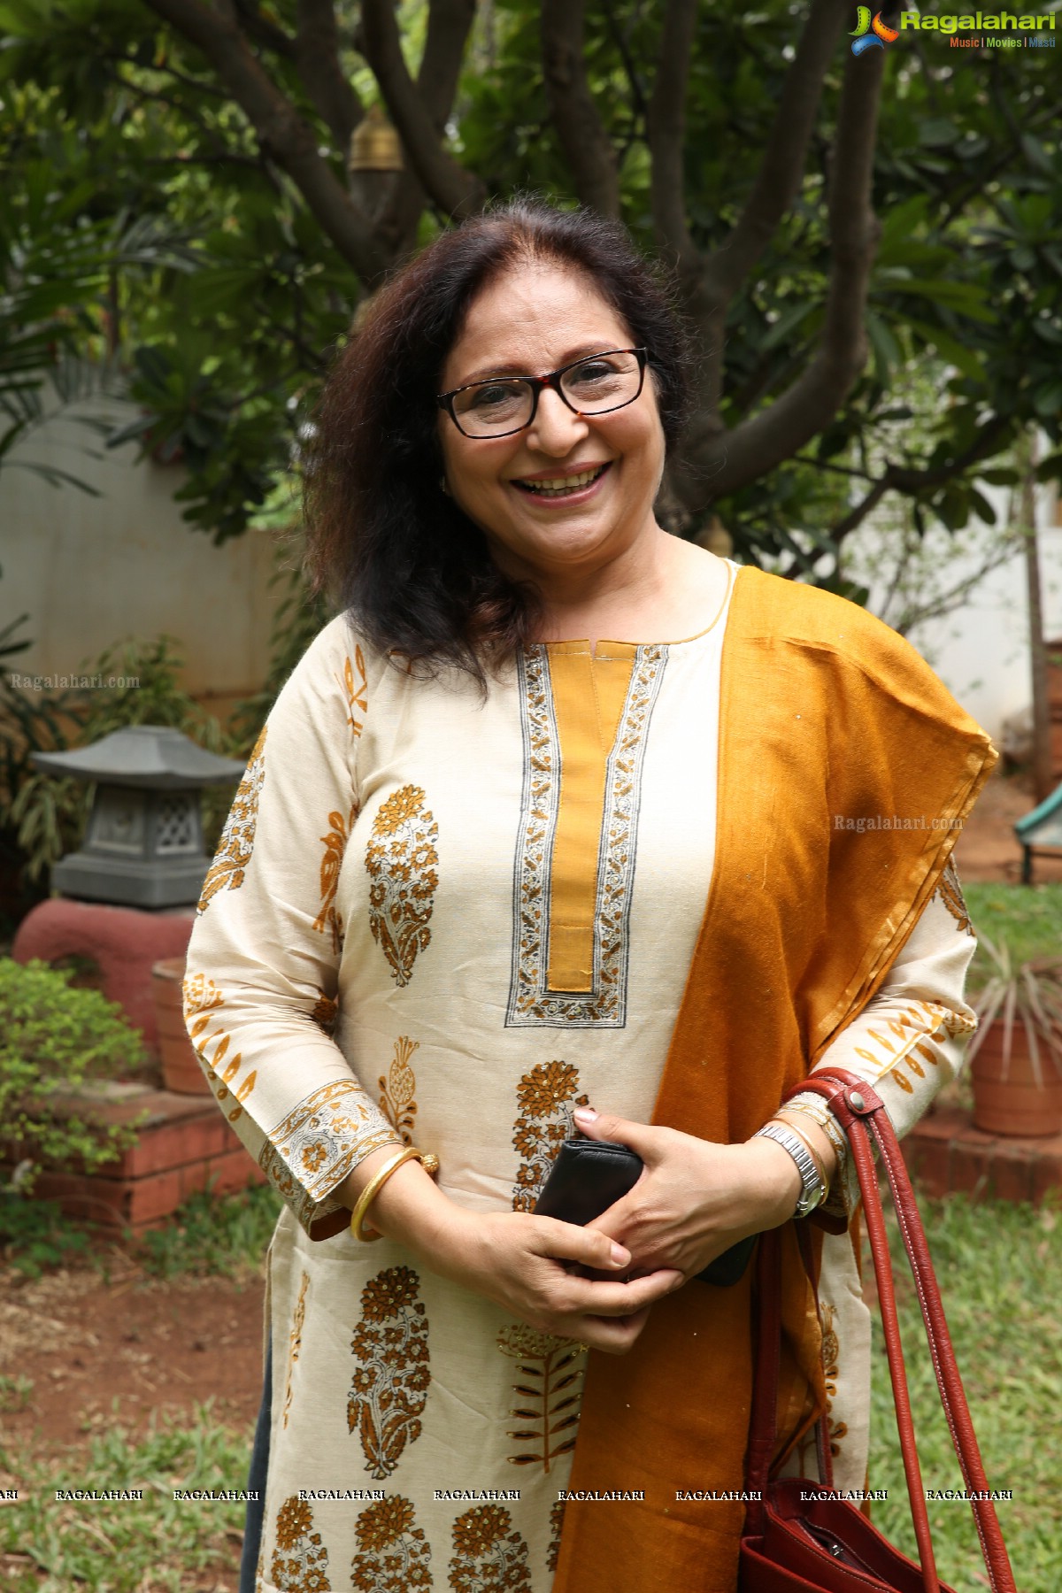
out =
[[[199,900],[210,867],[199,793],[236,784],[242,763],[162,725],[131,725],[76,752],[30,757],[49,774],[96,781],[84,843],[53,868],[56,890],[140,908]]]

